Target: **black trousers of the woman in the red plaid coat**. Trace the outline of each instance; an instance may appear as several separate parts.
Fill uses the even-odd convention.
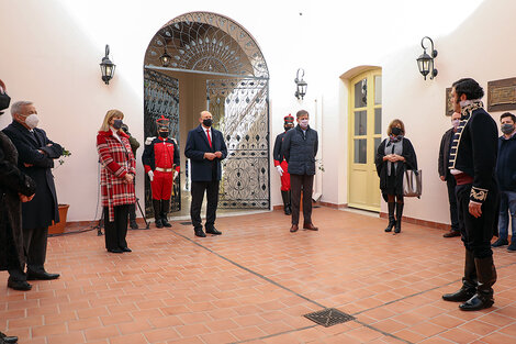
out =
[[[104,207],[105,248],[119,249],[127,247],[127,217],[130,204],[113,207],[114,221],[110,222],[109,208]]]

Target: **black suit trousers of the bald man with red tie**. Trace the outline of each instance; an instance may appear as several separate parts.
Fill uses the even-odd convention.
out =
[[[190,204],[190,218],[194,229],[202,229],[201,206],[206,191],[206,230],[212,230],[215,225],[216,206],[218,203],[218,180],[215,181],[192,181]]]

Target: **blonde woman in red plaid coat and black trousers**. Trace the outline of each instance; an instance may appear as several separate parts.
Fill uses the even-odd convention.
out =
[[[97,135],[101,164],[102,207],[104,211],[105,248],[112,253],[131,252],[127,234],[128,207],[136,201],[134,176],[136,160],[128,136],[122,127],[124,114],[110,110]]]

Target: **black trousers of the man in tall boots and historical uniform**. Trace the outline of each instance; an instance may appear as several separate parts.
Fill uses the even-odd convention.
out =
[[[471,251],[475,258],[485,258],[493,255],[491,238],[498,219],[498,189],[493,182],[482,204],[482,215],[474,218],[469,211],[471,187],[471,184],[456,187],[459,212],[464,224],[461,229],[462,242],[465,249]]]

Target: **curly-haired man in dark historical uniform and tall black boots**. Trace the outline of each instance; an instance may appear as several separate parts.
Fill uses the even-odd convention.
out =
[[[457,180],[457,202],[464,221],[461,236],[465,247],[462,288],[444,295],[447,301],[463,302],[463,311],[494,303],[496,269],[491,249],[498,218],[498,186],[495,178],[497,126],[484,110],[482,87],[471,78],[453,82],[451,97],[461,120],[451,142],[449,169]]]

